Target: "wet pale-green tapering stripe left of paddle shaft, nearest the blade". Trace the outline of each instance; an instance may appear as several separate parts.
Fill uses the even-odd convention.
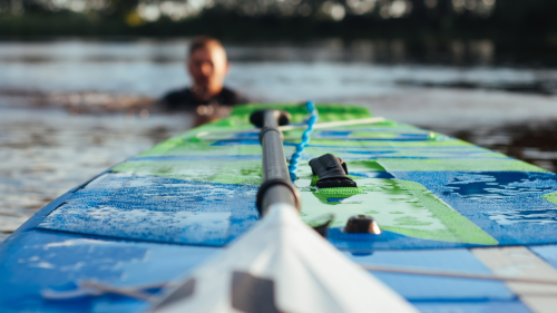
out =
[[[260,186],[261,159],[250,160],[140,160],[127,162],[113,172],[149,175],[189,182]]]

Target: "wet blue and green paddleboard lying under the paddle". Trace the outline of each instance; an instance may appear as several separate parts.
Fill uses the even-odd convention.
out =
[[[305,131],[305,106],[236,107],[227,118],[128,159],[47,205],[2,243],[1,312],[157,311],[173,294],[178,295],[175,304],[203,307],[188,306],[203,304],[190,280],[209,275],[211,264],[215,271],[240,264],[245,267],[240,272],[247,273],[243,277],[256,286],[265,286],[275,275],[268,268],[287,271],[270,267],[268,257],[263,262],[264,257],[245,256],[245,263],[229,257],[238,251],[235,244],[261,250],[250,243],[264,237],[256,226],[265,213],[256,205],[263,183],[262,130],[250,123],[251,114],[261,108],[290,113],[290,125],[282,128],[290,158]],[[299,216],[306,225],[319,228],[323,216],[331,216],[329,243],[300,235],[301,243],[319,242],[310,248],[320,248],[312,251],[329,253],[321,248],[329,245],[342,254],[323,260],[332,264],[331,273],[368,275],[352,265],[339,271],[343,262],[359,264],[374,276],[358,284],[369,286],[362,287],[364,295],[369,288],[371,299],[399,296],[402,302],[384,305],[408,309],[410,303],[421,312],[557,307],[555,174],[440,134],[373,118],[364,108],[322,105],[317,111],[293,183],[300,193]],[[322,158],[326,155],[332,156]],[[310,166],[312,159],[322,168]],[[329,177],[355,184],[325,184],[328,174],[320,170],[326,170],[329,162],[345,168],[342,178]],[[292,214],[268,213],[261,223],[273,216],[289,221]],[[353,225],[370,218],[380,232]],[[289,234],[282,232],[286,231],[277,231],[277,236]],[[268,251],[286,255],[276,253],[284,246],[273,244]],[[226,260],[232,261],[223,263]],[[302,260],[315,268],[322,265],[310,256]],[[322,270],[315,273],[326,276]],[[319,299],[313,295],[324,281],[329,291],[334,282],[351,287],[341,276],[326,276],[306,284],[309,296]],[[294,312],[289,299],[278,294],[284,290],[281,282],[271,282],[274,293],[265,294],[274,300],[273,312]],[[197,286],[202,294],[202,284]],[[229,292],[234,290],[238,291]],[[215,291],[226,294],[217,286]],[[233,306],[237,312],[253,309],[238,305]]]

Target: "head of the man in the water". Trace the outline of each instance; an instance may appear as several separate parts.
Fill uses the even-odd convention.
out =
[[[194,80],[194,92],[211,98],[223,89],[231,65],[223,45],[214,38],[197,37],[189,46],[187,69]]]

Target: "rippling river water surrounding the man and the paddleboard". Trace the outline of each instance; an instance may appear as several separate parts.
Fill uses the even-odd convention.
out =
[[[0,42],[0,241],[68,189],[193,126],[190,116],[150,108],[188,85],[186,45]],[[557,168],[557,69],[494,66],[488,41],[428,63],[412,61],[398,41],[225,47],[233,63],[226,85],[253,101],[363,105]]]

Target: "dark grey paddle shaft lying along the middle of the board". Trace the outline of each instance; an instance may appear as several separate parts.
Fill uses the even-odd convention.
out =
[[[290,173],[284,157],[283,136],[278,130],[281,111],[265,110],[260,140],[263,149],[263,184],[260,192],[260,213],[264,216],[267,208],[276,203],[285,203],[300,208],[295,187],[290,183]]]

